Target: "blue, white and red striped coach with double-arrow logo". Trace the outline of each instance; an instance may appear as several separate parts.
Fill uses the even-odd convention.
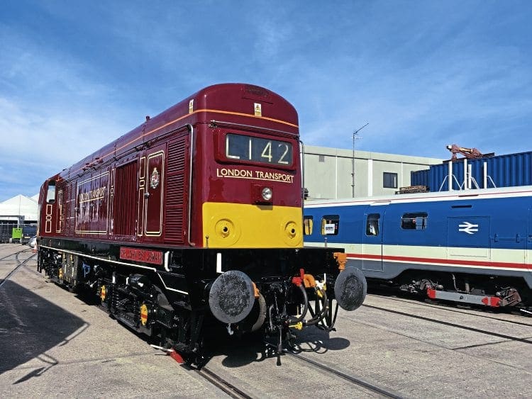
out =
[[[343,247],[367,279],[430,298],[531,305],[532,188],[309,201],[306,245]],[[333,230],[331,229],[331,232]]]

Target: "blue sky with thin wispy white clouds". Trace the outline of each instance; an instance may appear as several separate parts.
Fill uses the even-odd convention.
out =
[[[204,86],[297,108],[306,145],[532,150],[532,1],[29,1],[0,13],[0,201]]]

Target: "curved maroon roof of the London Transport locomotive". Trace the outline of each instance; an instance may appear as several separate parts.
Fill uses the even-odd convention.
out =
[[[262,104],[275,104],[275,107],[268,108],[270,113],[267,115],[255,116],[253,110],[243,108],[242,99],[257,101]],[[251,84],[214,84],[188,96],[153,118],[146,116],[145,122],[133,130],[101,147],[71,167],[63,169],[51,179],[58,177],[69,179],[70,176],[96,167],[109,159],[122,157],[128,152],[132,152],[135,147],[181,128],[187,123],[192,125],[209,123],[213,113],[231,114],[239,117],[251,116],[257,118],[257,121],[254,122],[257,125],[271,125],[273,122],[282,125],[284,131],[292,133],[294,136],[299,135],[297,111],[291,103],[279,94]]]

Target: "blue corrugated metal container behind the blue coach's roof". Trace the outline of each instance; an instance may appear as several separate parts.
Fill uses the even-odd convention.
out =
[[[484,188],[484,163],[487,169],[487,188],[528,186],[532,185],[532,151],[518,154],[499,155],[497,157],[467,159],[471,166],[474,181],[472,188]],[[412,185],[428,186],[431,191],[447,191],[449,166],[448,162],[432,165],[428,170],[411,172]],[[464,161],[453,162],[453,190],[463,189]],[[414,183],[415,182],[415,183]]]

